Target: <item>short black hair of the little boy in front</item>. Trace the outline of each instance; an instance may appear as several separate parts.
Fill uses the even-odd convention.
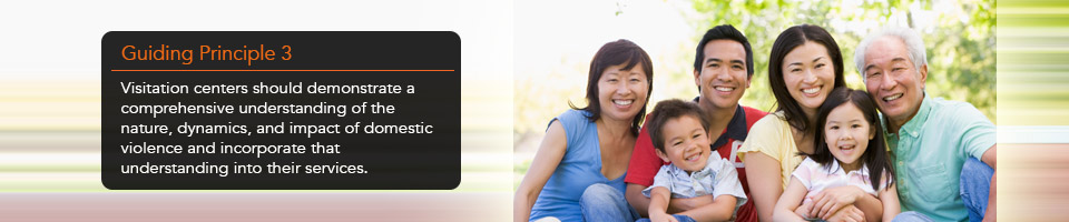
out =
[[[654,107],[654,112],[649,114],[649,123],[646,125],[649,131],[649,139],[654,143],[654,148],[665,152],[665,123],[668,120],[676,118],[681,118],[684,115],[693,117],[702,122],[702,129],[706,133],[709,131],[709,121],[705,119],[705,115],[702,114],[702,108],[694,102],[685,102],[679,99],[670,99],[657,102],[657,107]]]

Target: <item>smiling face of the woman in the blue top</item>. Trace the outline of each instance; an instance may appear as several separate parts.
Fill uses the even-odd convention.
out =
[[[625,64],[611,65],[601,72],[598,79],[598,101],[601,103],[601,117],[618,121],[631,121],[646,103],[649,83],[643,63],[630,70],[621,70]]]

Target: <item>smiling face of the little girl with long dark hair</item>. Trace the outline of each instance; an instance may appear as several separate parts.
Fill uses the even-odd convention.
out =
[[[846,172],[861,168],[861,155],[869,141],[876,134],[875,128],[854,103],[845,102],[827,113],[824,122],[824,141],[828,151]]]

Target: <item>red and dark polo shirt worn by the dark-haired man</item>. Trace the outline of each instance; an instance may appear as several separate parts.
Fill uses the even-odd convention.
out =
[[[743,168],[743,161],[737,158],[736,151],[743,145],[743,141],[746,140],[749,128],[754,125],[754,122],[768,113],[749,107],[738,105],[738,108],[735,109],[735,117],[727,123],[727,129],[724,129],[724,132],[709,149],[717,151],[720,157],[735,163],[735,170],[738,171],[738,181],[743,184],[746,196],[749,198],[752,195],[749,194],[749,183],[746,181],[746,170]],[[643,130],[638,133],[638,141],[635,142],[635,151],[631,152],[631,161],[628,163],[627,178],[624,179],[624,182],[645,186],[653,185],[654,175],[665,164],[669,163],[657,157],[654,151],[654,143],[649,139],[649,132],[646,131],[646,125],[643,125]],[[746,201],[738,209],[738,212],[735,212],[735,221],[758,221],[754,202]]]

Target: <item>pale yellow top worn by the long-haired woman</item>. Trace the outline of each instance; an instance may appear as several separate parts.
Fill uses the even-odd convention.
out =
[[[779,161],[781,186],[786,190],[791,182],[791,173],[805,160],[798,155],[798,145],[794,143],[791,123],[783,118],[783,112],[765,115],[749,128],[749,135],[738,149],[738,159],[745,161],[747,152],[761,152]]]

